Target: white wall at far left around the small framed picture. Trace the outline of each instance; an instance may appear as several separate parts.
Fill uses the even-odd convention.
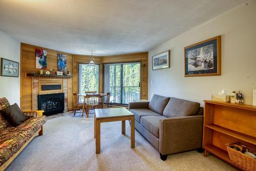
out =
[[[20,42],[0,31],[0,58],[19,62]],[[0,98],[6,97],[11,104],[19,105],[19,77],[0,76]]]

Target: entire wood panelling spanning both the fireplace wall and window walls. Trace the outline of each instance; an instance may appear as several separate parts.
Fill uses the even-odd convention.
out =
[[[25,73],[40,72],[39,69],[35,68],[35,48],[47,50],[47,71],[50,71],[50,69],[57,71],[58,53],[67,55],[67,70],[70,70],[73,76],[68,79],[68,110],[73,110],[73,92],[78,91],[78,63],[90,62],[91,56],[72,55],[24,43],[21,43],[20,45],[20,108],[22,110],[32,110],[32,78],[26,77]],[[147,58],[148,52],[111,56],[94,56],[95,62],[100,65],[99,91],[103,92],[103,63],[141,61],[141,98],[147,99]],[[44,72],[45,71],[46,70],[44,70]],[[51,81],[48,83],[51,84]]]

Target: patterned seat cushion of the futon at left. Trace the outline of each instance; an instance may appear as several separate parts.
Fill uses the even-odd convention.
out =
[[[0,166],[37,132],[46,122],[46,116],[27,119],[22,124],[12,127],[7,126],[0,132]]]

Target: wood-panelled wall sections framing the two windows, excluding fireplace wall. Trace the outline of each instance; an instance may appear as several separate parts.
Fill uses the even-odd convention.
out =
[[[87,55],[73,55],[73,90],[78,90],[78,77],[77,69],[78,63],[90,62],[91,56]],[[96,63],[100,63],[100,80],[99,80],[99,91],[103,92],[103,64],[104,63],[115,63],[115,62],[129,62],[129,61],[141,61],[141,98],[147,99],[147,68],[148,68],[148,52],[142,53],[131,53],[123,55],[111,55],[111,56],[95,56],[94,60]]]

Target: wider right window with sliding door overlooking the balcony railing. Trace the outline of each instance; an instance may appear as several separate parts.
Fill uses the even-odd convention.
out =
[[[111,103],[140,99],[140,63],[104,65],[104,92],[111,93]]]

